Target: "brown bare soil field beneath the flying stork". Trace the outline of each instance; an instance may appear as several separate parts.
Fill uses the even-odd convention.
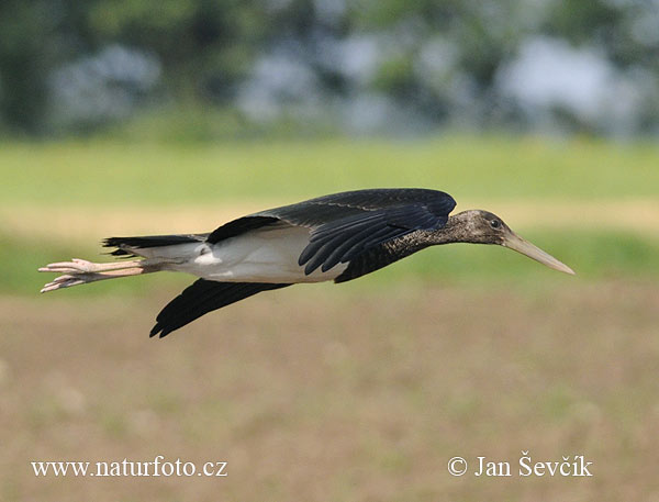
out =
[[[0,298],[0,500],[659,498],[656,285],[357,291],[264,293],[161,341],[147,333],[174,291]],[[583,455],[593,476],[522,477],[523,451]],[[159,455],[227,476],[31,466]],[[474,476],[479,456],[512,476]]]

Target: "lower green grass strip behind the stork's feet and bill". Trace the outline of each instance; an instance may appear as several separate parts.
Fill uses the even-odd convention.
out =
[[[525,236],[549,250],[578,271],[578,278],[559,275],[527,258],[494,246],[457,244],[426,249],[387,269],[350,285],[350,290],[372,290],[410,286],[461,286],[492,288],[514,287],[534,289],[565,285],[571,280],[597,281],[607,279],[659,279],[659,239],[644,239],[636,234],[602,232],[528,232]],[[0,247],[2,266],[0,291],[10,294],[34,295],[53,275],[37,274],[47,263],[81,257],[108,260],[100,256],[94,243],[20,243],[7,238]],[[71,288],[55,294],[67,297],[139,294],[164,287],[175,292],[193,280],[191,276],[159,274],[157,276],[127,278]],[[346,286],[337,288],[348,289]]]

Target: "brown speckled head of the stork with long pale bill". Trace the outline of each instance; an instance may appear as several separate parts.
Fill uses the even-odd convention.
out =
[[[448,227],[453,227],[457,241],[474,244],[498,244],[522,253],[549,268],[566,274],[574,271],[554,256],[515,234],[496,214],[489,211],[470,210],[451,216]]]

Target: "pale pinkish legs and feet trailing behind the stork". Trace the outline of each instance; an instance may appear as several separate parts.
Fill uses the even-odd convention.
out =
[[[103,279],[138,276],[161,270],[163,260],[138,259],[111,264],[94,264],[74,258],[71,261],[49,264],[38,269],[40,272],[59,272],[62,276],[45,285],[41,292],[55,291],[71,286],[86,285]]]

